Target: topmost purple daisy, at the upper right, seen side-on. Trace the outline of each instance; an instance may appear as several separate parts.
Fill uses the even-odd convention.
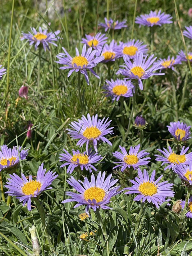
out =
[[[161,26],[165,23],[172,23],[172,19],[170,14],[161,13],[161,10],[158,13],[151,11],[150,14],[144,14],[141,16],[137,16],[135,19],[135,23],[143,26],[153,27],[154,25]]]

